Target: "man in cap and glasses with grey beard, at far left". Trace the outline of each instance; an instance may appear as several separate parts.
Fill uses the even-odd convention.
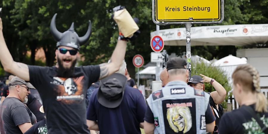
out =
[[[22,134],[36,123],[35,115],[24,105],[28,101],[30,88],[34,88],[32,84],[19,77],[9,82],[9,95],[0,106],[1,134]]]

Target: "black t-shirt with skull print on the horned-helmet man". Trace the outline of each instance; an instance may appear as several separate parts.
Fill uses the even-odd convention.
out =
[[[99,79],[99,65],[75,67],[72,78],[57,77],[55,66],[28,67],[30,83],[43,101],[48,133],[89,133],[85,95],[88,87]]]

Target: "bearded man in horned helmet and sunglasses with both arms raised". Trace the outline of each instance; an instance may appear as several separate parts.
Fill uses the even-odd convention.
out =
[[[53,67],[27,66],[15,62],[8,51],[0,18],[0,60],[4,70],[30,81],[42,98],[49,134],[89,133],[86,125],[85,94],[91,83],[103,79],[117,70],[124,59],[127,41],[119,36],[111,63],[74,67],[79,57],[80,45],[91,35],[91,22],[86,34],[79,37],[74,23],[61,33],[57,30],[55,14],[50,29],[57,42],[57,65]]]

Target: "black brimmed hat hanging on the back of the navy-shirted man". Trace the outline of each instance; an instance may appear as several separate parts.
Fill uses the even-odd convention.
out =
[[[123,100],[126,83],[127,77],[118,73],[100,80],[98,102],[108,108],[118,107]]]

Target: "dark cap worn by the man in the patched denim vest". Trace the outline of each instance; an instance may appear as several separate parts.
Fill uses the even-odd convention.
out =
[[[180,57],[172,57],[171,59],[169,59],[166,63],[166,69],[170,70],[170,69],[180,69],[180,68],[185,68],[186,66],[186,60],[184,60],[183,58]]]

